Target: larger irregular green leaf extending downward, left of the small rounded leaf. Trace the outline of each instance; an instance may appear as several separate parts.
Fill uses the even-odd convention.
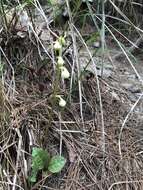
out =
[[[36,176],[39,170],[48,168],[49,154],[42,148],[33,148],[32,150],[32,174],[31,182],[36,182]]]

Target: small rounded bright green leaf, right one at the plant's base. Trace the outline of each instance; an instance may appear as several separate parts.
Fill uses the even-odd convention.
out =
[[[62,156],[53,156],[49,162],[48,170],[51,173],[58,173],[62,170],[66,163],[66,159]]]

